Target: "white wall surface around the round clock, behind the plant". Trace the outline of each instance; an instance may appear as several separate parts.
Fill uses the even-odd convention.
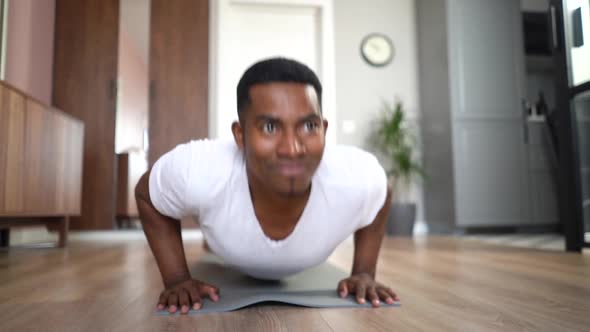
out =
[[[389,36],[395,47],[393,61],[382,68],[371,67],[360,55],[361,40],[372,32]],[[408,117],[418,122],[415,1],[336,0],[334,37],[338,123],[331,126],[332,130],[338,127],[338,143],[368,148],[370,124],[379,114],[382,100],[393,103],[399,98]],[[418,203],[417,219],[422,220],[420,186],[413,188],[410,199]]]

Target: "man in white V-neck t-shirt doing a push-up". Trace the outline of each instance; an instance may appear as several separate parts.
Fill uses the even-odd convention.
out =
[[[234,141],[179,145],[143,175],[136,199],[164,281],[158,310],[187,313],[202,297],[219,300],[219,289],[198,279],[206,276],[189,273],[179,223],[189,215],[215,254],[261,279],[318,265],[354,233],[354,264],[337,286],[340,296],[375,307],[399,300],[374,280],[391,196],[385,172],[367,152],[325,146],[321,96],[305,65],[258,62],[238,84]]]

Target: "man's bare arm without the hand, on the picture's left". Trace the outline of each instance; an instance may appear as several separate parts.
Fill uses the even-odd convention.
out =
[[[137,208],[143,231],[162,274],[164,285],[169,287],[191,277],[186,263],[180,221],[160,214],[152,205],[144,175],[136,191]],[[145,188],[141,188],[141,186]]]

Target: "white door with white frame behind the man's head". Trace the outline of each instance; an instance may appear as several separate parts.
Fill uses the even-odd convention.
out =
[[[232,137],[240,77],[254,62],[273,56],[298,60],[316,72],[324,87],[324,116],[336,123],[333,42],[327,24],[332,20],[331,1],[220,0],[210,4],[212,137]],[[328,130],[328,136],[333,139],[334,130]]]

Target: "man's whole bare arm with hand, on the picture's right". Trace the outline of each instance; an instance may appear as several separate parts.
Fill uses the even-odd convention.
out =
[[[375,281],[377,258],[385,235],[390,204],[391,187],[388,185],[385,203],[373,222],[354,233],[352,272],[349,278],[341,280],[338,284],[341,297],[354,293],[358,303],[365,303],[365,299],[369,299],[375,307],[379,306],[380,299],[388,304],[392,304],[394,300],[399,301],[399,297],[391,288]]]

